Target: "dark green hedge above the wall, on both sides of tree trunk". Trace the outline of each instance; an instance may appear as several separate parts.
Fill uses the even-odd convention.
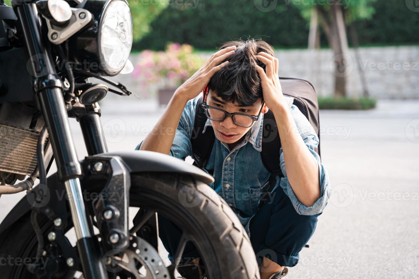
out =
[[[308,23],[300,10],[286,3],[290,1],[278,0],[276,8],[265,13],[253,0],[170,0],[151,24],[152,31],[133,49],[163,50],[168,42],[178,42],[208,50],[248,36],[274,47],[305,48]],[[361,45],[419,43],[419,13],[409,10],[404,0],[379,0],[373,7],[376,12],[371,20],[356,23]],[[321,42],[328,46],[323,35]]]

